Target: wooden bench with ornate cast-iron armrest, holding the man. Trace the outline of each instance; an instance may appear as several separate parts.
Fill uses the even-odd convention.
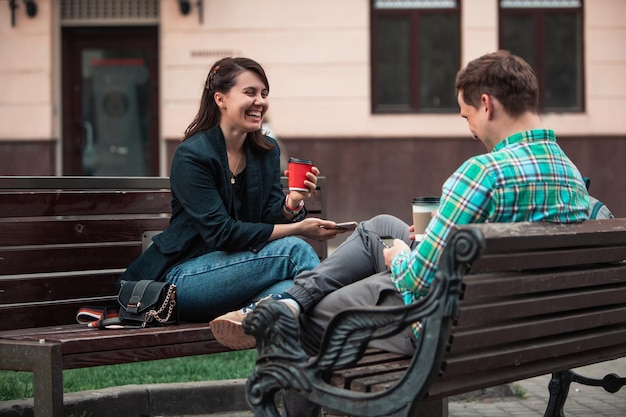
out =
[[[274,394],[289,389],[340,415],[445,416],[449,396],[552,374],[545,415],[560,417],[572,381],[626,384],[570,370],[626,356],[624,259],[626,219],[459,227],[426,297],[339,313],[318,356],[282,303],[261,303],[244,321],[259,350],[248,402],[278,416]],[[367,348],[415,321],[412,358]]]

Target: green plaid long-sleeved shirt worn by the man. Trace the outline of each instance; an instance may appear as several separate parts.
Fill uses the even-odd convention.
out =
[[[456,224],[569,223],[587,219],[589,211],[583,178],[557,145],[554,132],[516,133],[491,153],[470,158],[448,178],[424,240],[411,253],[393,259],[391,278],[405,303],[424,296]]]

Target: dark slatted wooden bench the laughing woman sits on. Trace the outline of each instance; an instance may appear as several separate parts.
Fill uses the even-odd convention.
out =
[[[307,208],[325,217],[319,180]],[[158,177],[0,177],[0,369],[33,372],[36,416],[63,415],[64,369],[229,350],[207,323],[76,324],[79,307],[115,305],[114,282],[169,223],[169,188]]]

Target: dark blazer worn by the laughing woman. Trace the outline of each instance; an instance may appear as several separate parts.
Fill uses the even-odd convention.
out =
[[[248,139],[249,140],[249,139]],[[246,145],[245,200],[241,218],[233,209],[233,185],[224,135],[219,127],[183,141],[172,160],[172,218],[153,244],[118,280],[163,280],[172,266],[204,253],[258,251],[274,224],[289,223],[282,210],[285,194],[280,182],[280,150],[269,152]],[[301,220],[303,211],[293,221]]]

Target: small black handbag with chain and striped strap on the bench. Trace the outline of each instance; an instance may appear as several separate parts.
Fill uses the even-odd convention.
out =
[[[138,329],[178,324],[176,285],[144,279],[122,281],[116,307],[83,307],[76,320],[99,329]]]

